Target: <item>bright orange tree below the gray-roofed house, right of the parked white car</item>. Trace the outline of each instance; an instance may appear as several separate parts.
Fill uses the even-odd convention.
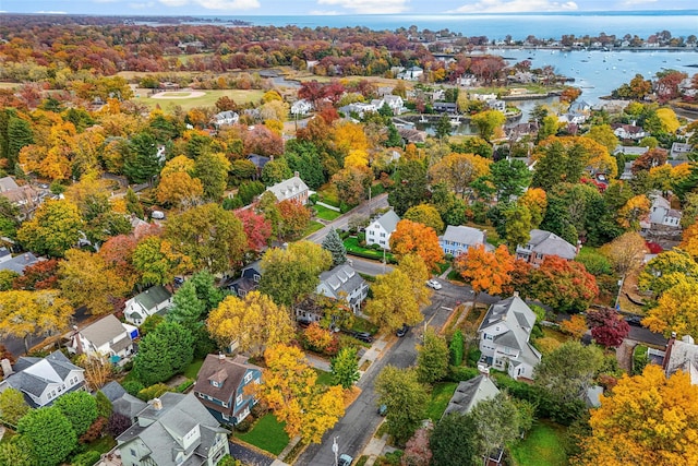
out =
[[[470,282],[476,292],[498,295],[512,280],[514,256],[504,244],[500,244],[492,252],[488,251],[484,244],[479,244],[459,254],[454,261],[454,267]]]

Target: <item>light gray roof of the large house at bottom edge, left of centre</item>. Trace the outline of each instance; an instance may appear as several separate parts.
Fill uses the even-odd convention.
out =
[[[139,422],[131,426],[117,438],[119,446],[140,438],[151,451],[149,458],[158,466],[174,466],[176,453],[184,451],[174,435],[182,435],[200,426],[201,438],[185,452],[195,452],[183,465],[203,464],[202,457],[208,454],[216,433],[228,433],[218,421],[198,403],[193,393],[165,393],[160,397],[163,407],[155,409],[147,405],[137,415]],[[204,430],[206,432],[204,433]]]

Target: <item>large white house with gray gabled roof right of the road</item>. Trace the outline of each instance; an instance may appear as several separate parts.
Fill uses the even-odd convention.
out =
[[[541,361],[529,342],[534,324],[535,314],[518,295],[492,304],[478,328],[480,362],[506,371],[512,379],[532,379]]]

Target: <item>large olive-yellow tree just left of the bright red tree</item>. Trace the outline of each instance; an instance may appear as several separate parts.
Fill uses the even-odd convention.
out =
[[[218,204],[204,204],[170,217],[165,237],[194,268],[224,273],[239,264],[246,248],[242,223]]]

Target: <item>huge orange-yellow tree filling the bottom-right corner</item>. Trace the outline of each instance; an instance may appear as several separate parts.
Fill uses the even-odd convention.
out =
[[[679,371],[666,379],[661,367],[648,365],[641,375],[624,375],[600,399],[579,464],[698,464],[698,386],[688,374]]]

